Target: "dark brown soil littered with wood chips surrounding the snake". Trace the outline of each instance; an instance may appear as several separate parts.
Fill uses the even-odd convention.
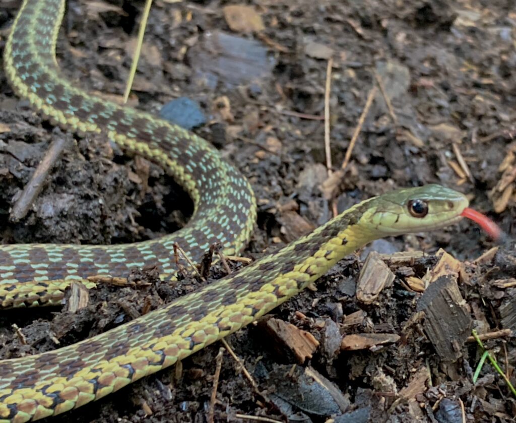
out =
[[[0,50],[20,3],[0,3]],[[90,91],[120,98],[143,5],[69,1],[58,41],[63,73]],[[200,105],[206,122],[195,131],[237,164],[258,199],[257,229],[246,257],[258,258],[325,223],[334,208],[343,211],[394,187],[426,183],[466,193],[472,207],[512,232],[516,12],[511,2],[250,0],[250,9],[230,5],[243,6],[156,0],[130,102],[152,113],[179,97]],[[330,57],[334,170],[361,124],[351,160],[333,184],[327,181],[322,119]],[[9,223],[16,196],[58,137],[66,138],[67,147],[42,193],[23,220]],[[162,169],[124,155],[102,137],[79,138],[54,129],[13,95],[3,73],[0,186],[3,243],[136,242],[174,231],[191,213],[191,202]],[[340,423],[512,421],[515,397],[488,362],[473,383],[482,351],[466,339],[472,328],[480,334],[506,330],[485,346],[516,382],[512,246],[507,242],[477,260],[493,243],[466,221],[375,242],[337,265],[316,289],[279,307],[272,319],[228,338],[256,388],[224,352],[211,402],[222,347],[216,343],[181,365],[52,421],[202,422],[211,409],[214,421],[249,421],[242,416]],[[446,274],[435,282],[442,289],[423,293],[417,281],[424,282],[427,270],[435,269],[440,248],[460,260],[460,277]],[[401,264],[385,259],[385,272],[392,270],[394,280],[368,304],[357,298],[356,285],[372,250],[425,254],[413,253]],[[152,279],[142,272],[141,278]],[[211,277],[222,274],[216,265]],[[104,287],[91,292],[88,306],[76,314],[66,306],[3,312],[0,357],[88,338],[198,285],[187,279],[175,286]],[[447,323],[455,322],[440,325],[436,316],[433,326],[427,324],[437,304],[432,299],[444,291],[454,292],[450,299],[462,310],[454,316],[464,319],[457,317],[464,323],[451,349],[446,347],[450,339],[443,347],[432,333],[442,330],[450,337],[454,332],[446,332],[453,329]],[[308,343],[319,342],[311,358],[286,352],[278,327],[298,333],[286,323],[305,331],[299,333]],[[345,342],[349,335],[358,338]],[[365,335],[375,341],[364,341]]]

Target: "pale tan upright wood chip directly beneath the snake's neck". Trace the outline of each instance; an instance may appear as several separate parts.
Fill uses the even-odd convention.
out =
[[[383,288],[393,283],[394,278],[394,273],[380,255],[377,252],[370,253],[358,278],[357,300],[364,304],[373,303]]]

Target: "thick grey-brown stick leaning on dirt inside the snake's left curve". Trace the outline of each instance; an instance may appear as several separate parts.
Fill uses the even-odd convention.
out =
[[[49,149],[46,150],[43,160],[34,171],[34,174],[28,181],[27,185],[25,185],[22,194],[14,202],[9,215],[10,222],[18,222],[27,215],[27,212],[34,204],[36,197],[43,189],[44,182],[47,176],[49,176],[50,170],[59,160],[66,144],[67,139],[64,136],[58,136],[52,141]]]

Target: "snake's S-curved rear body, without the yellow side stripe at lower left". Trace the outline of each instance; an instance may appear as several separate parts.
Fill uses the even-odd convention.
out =
[[[125,150],[163,166],[185,188],[195,212],[184,229],[163,238],[114,246],[17,244],[0,250],[0,277],[13,281],[127,276],[155,264],[162,278],[176,273],[173,246],[193,262],[213,243],[225,254],[247,245],[256,204],[247,180],[204,139],[129,107],[88,95],[59,74],[55,41],[65,2],[29,0],[22,6],[5,49],[8,79],[45,116],[80,133],[104,133]],[[67,263],[63,265],[63,263]],[[13,273],[16,267],[16,274]]]

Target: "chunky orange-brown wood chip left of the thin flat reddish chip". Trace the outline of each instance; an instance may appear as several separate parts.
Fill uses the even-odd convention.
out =
[[[312,358],[319,342],[307,331],[303,331],[291,323],[281,319],[270,318],[260,323],[260,326],[272,336],[275,349],[293,354],[299,364],[304,364]]]

